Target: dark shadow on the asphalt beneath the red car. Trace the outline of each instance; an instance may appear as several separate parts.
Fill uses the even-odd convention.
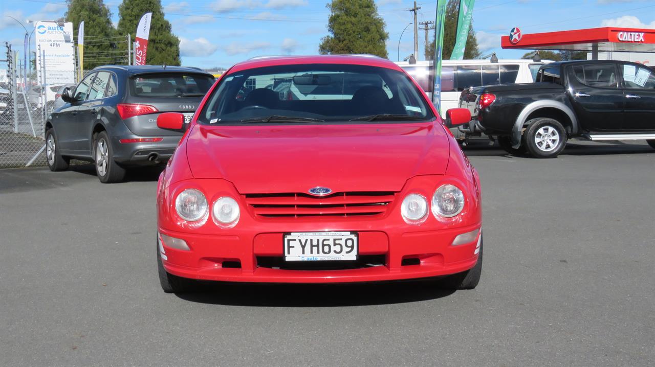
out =
[[[208,283],[195,292],[176,294],[203,304],[254,307],[344,307],[402,304],[449,296],[430,280],[357,284],[241,284]]]

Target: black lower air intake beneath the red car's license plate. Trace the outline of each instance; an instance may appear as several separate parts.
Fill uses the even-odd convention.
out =
[[[259,268],[278,270],[350,270],[375,268],[386,264],[386,255],[360,255],[357,260],[285,261],[282,256],[257,256]]]

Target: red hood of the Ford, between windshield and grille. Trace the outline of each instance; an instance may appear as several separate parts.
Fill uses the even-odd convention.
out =
[[[446,134],[435,122],[194,126],[185,145],[195,179],[225,179],[241,194],[397,192],[415,175],[445,173]]]

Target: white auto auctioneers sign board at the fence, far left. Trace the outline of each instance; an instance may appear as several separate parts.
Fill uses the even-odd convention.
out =
[[[70,22],[37,22],[37,67],[45,69],[45,82],[50,85],[75,83],[75,44]],[[39,83],[43,84],[42,73]]]

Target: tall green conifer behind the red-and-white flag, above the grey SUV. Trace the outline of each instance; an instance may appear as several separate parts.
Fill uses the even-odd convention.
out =
[[[134,35],[141,16],[152,12],[148,37],[148,65],[179,65],[179,39],[171,31],[170,22],[164,18],[160,0],[123,0],[119,5],[118,32],[122,36]]]

